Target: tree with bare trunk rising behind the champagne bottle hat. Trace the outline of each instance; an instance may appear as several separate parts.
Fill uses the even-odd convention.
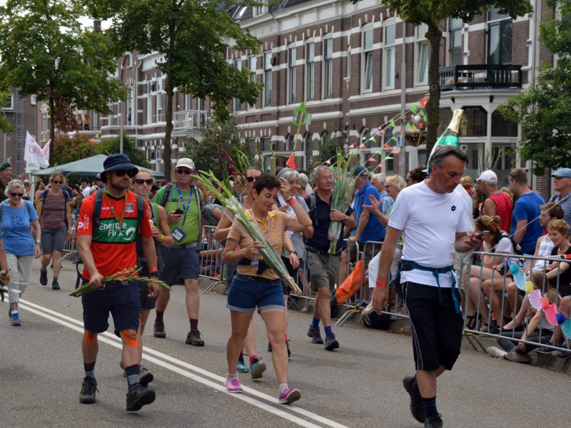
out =
[[[356,3],[360,0],[353,0]],[[383,0],[403,21],[414,24],[426,24],[425,36],[430,43],[428,58],[429,99],[426,105],[428,130],[426,135],[426,151],[430,153],[438,139],[437,131],[440,111],[440,42],[443,36],[443,25],[448,18],[472,21],[475,16],[497,7],[500,14],[507,14],[515,19],[532,11],[529,0]]]

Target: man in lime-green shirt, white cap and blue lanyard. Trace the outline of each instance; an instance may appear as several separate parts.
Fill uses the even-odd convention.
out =
[[[192,159],[179,159],[174,168],[173,183],[159,189],[153,202],[165,208],[168,228],[174,239],[171,248],[161,247],[165,263],[162,279],[171,286],[177,283],[178,278],[184,280],[186,312],[191,324],[186,343],[204,346],[201,332],[198,331],[198,245],[201,243],[202,232],[202,193],[196,187],[195,175],[196,168]],[[165,291],[161,292],[156,301],[154,337],[166,337],[163,315],[171,293]]]

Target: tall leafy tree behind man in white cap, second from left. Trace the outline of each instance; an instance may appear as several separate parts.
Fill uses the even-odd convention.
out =
[[[249,4],[255,2],[249,1]],[[91,13],[112,19],[119,51],[156,52],[165,75],[166,128],[163,141],[164,173],[171,174],[174,89],[210,98],[214,115],[227,118],[232,98],[254,103],[260,84],[250,81],[247,68],[226,61],[228,49],[256,54],[259,41],[243,31],[228,9],[236,0],[97,0]],[[244,4],[241,2],[240,4]]]

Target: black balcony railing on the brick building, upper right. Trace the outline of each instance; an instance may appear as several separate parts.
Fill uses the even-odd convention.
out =
[[[476,88],[521,88],[522,66],[477,64],[440,68],[442,91]]]

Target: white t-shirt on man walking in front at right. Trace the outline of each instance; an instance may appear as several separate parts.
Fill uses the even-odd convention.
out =
[[[435,193],[425,181],[404,188],[388,220],[390,227],[404,232],[403,260],[426,267],[452,265],[456,233],[466,233],[469,229],[464,207],[460,193]],[[440,274],[439,280],[441,287],[452,286],[449,272]],[[401,272],[400,282],[406,281],[438,286],[433,272],[428,270]]]

